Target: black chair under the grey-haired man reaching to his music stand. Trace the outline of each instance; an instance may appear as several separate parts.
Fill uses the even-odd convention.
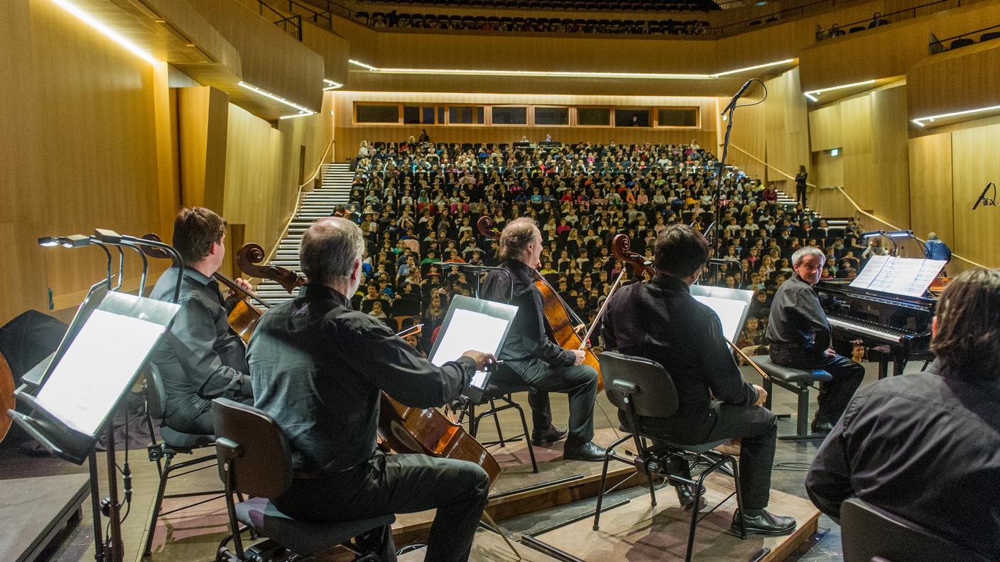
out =
[[[354,560],[377,562],[378,557],[351,544],[354,537],[391,524],[384,515],[339,523],[298,521],[278,511],[269,501],[285,493],[292,483],[291,452],[285,433],[264,412],[226,398],[212,401],[219,477],[225,485],[226,511],[231,535],[219,543],[216,562],[258,560],[264,552],[284,547],[301,556],[312,556],[338,545],[355,554]],[[234,494],[252,499],[236,502]],[[241,527],[240,524],[246,527]],[[243,548],[240,533],[256,531],[270,540]],[[233,541],[236,552],[227,547]]]

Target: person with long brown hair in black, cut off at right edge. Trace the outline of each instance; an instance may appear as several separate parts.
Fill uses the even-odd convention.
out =
[[[945,287],[925,372],[858,391],[806,476],[835,519],[858,497],[1000,560],[1000,270]]]

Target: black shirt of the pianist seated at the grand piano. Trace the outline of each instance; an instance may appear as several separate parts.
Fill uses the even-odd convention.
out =
[[[819,296],[797,274],[774,293],[767,341],[772,349],[785,348],[814,358],[822,357],[830,347],[830,322],[820,306]]]

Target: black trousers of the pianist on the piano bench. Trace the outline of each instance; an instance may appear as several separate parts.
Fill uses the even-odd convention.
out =
[[[775,349],[772,346],[771,361],[793,369],[823,369],[833,377],[832,380],[819,383],[819,396],[816,398],[819,410],[814,418],[816,423],[837,423],[854,396],[854,391],[865,378],[864,366],[843,355],[816,358],[803,350]]]

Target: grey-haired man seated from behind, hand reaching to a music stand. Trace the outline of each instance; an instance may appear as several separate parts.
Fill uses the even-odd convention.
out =
[[[426,559],[461,562],[486,505],[486,471],[467,461],[377,450],[379,401],[384,391],[407,406],[441,406],[492,357],[466,351],[435,367],[377,318],[351,310],[363,248],[361,229],[347,219],[309,227],[299,251],[309,282],[297,298],[269,309],[250,340],[255,406],[284,430],[292,454],[291,487],[271,499],[307,521],[436,508]],[[388,525],[360,542],[380,560],[396,559]]]

